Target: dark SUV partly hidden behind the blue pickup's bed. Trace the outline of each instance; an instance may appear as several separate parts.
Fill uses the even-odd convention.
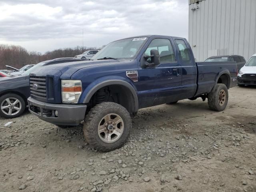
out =
[[[238,70],[240,70],[246,63],[246,60],[244,59],[244,57],[240,55],[212,56],[205,60],[205,62],[222,62],[222,61],[236,62]]]

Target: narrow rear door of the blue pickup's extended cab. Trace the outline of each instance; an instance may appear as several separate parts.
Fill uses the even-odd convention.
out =
[[[192,98],[196,92],[196,62],[187,42],[175,39],[178,48],[179,63],[182,68],[182,95],[180,99]]]

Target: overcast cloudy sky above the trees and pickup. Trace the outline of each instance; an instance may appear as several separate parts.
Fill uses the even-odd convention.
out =
[[[129,36],[188,37],[188,0],[1,0],[0,44],[100,47]]]

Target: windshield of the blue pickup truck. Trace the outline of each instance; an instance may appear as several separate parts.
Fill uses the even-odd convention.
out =
[[[91,60],[104,58],[134,59],[146,39],[146,37],[140,37],[114,41],[102,48]]]

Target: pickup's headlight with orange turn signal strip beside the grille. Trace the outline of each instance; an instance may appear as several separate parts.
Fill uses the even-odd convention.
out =
[[[63,103],[77,103],[81,93],[81,80],[61,80],[61,95]]]

